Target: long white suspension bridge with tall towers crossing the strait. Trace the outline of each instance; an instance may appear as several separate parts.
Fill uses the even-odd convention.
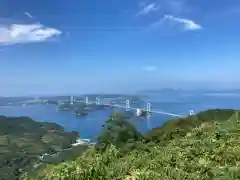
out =
[[[68,101],[69,102],[69,101]],[[155,113],[155,114],[162,114],[162,115],[169,115],[169,116],[173,116],[173,117],[186,117],[187,115],[183,115],[183,114],[178,114],[178,113],[170,113],[170,112],[165,112],[165,111],[161,111],[158,109],[151,109],[151,103],[148,102],[146,103],[146,108],[135,108],[135,107],[131,107],[130,106],[130,100],[126,100],[125,101],[125,105],[119,105],[119,104],[112,104],[112,103],[100,103],[100,98],[96,97],[96,100],[94,102],[90,102],[88,99],[88,96],[85,96],[85,100],[83,101],[78,101],[74,99],[74,96],[70,97],[70,104],[73,105],[74,103],[84,103],[86,105],[91,105],[91,104],[95,104],[95,105],[104,105],[104,106],[109,106],[109,107],[113,107],[113,108],[123,108],[126,110],[134,110],[137,112],[137,114],[141,113],[141,112],[146,112],[146,113]],[[192,116],[194,114],[193,110],[190,110],[188,115]]]

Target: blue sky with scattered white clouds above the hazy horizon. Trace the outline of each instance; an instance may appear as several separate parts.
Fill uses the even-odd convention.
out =
[[[239,0],[0,2],[0,94],[236,88]]]

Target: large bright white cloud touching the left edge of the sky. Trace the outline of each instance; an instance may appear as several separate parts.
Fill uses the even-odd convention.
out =
[[[42,42],[61,35],[61,31],[41,24],[0,25],[0,45]]]

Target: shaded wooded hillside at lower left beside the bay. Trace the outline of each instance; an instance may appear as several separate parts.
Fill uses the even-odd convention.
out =
[[[55,123],[0,116],[0,179],[18,179],[22,171],[32,169],[40,155],[68,148],[78,136]]]

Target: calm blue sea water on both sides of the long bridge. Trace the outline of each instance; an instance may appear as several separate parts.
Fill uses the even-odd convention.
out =
[[[165,98],[160,95],[151,95],[146,101],[151,102],[152,109],[170,113],[188,114],[190,109],[195,112],[215,108],[240,109],[240,96],[181,96]],[[135,105],[136,106],[136,105]],[[143,108],[145,104],[138,104]],[[0,114],[5,116],[28,116],[40,122],[55,122],[67,131],[77,131],[81,138],[94,140],[102,129],[102,125],[112,113],[112,109],[98,110],[85,117],[76,117],[71,112],[56,111],[55,105],[31,105],[26,107],[0,107]],[[120,111],[115,109],[115,111]],[[154,127],[161,126],[169,119],[169,115],[153,114],[149,119],[133,118],[129,120],[141,132],[147,132]]]

